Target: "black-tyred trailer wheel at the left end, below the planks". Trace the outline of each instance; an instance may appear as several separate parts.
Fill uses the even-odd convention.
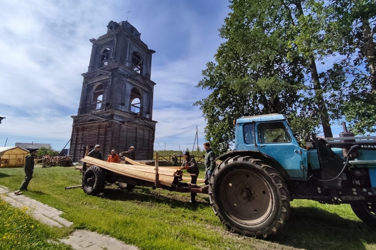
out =
[[[105,173],[98,166],[90,166],[82,176],[83,191],[86,194],[97,195],[105,188]]]

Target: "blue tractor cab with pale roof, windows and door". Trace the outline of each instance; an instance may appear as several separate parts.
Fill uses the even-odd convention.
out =
[[[235,134],[235,151],[261,153],[291,179],[307,179],[307,150],[300,147],[283,114],[241,117]]]

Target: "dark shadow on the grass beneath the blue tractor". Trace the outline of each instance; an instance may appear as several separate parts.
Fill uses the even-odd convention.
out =
[[[268,241],[307,250],[365,250],[365,242],[376,243],[375,232],[321,208],[291,208],[285,226]]]

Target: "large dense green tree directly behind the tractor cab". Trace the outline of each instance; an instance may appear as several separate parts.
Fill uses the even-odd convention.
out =
[[[198,84],[213,92],[195,103],[208,121],[206,139],[218,152],[233,142],[233,119],[267,113],[297,117],[297,110],[310,105],[300,101],[305,89],[302,58],[287,57],[286,27],[291,23],[285,16],[290,13],[280,6],[273,1],[233,1],[234,11],[220,29],[227,41],[215,54],[217,63],[206,65]]]

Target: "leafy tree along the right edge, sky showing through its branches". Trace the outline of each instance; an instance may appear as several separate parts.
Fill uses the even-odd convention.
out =
[[[308,2],[325,20],[321,32],[321,55],[336,55],[346,81],[338,93],[340,114],[353,132],[375,132],[376,120],[376,1],[331,0]]]

